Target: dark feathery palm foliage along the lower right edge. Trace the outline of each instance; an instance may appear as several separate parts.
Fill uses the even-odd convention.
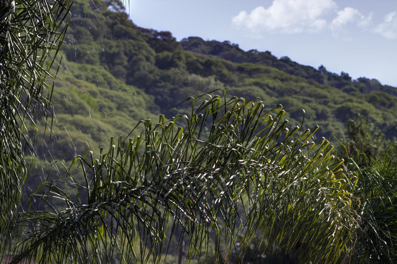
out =
[[[354,263],[397,262],[397,146],[389,143],[378,159],[366,157],[369,166],[359,168],[357,157],[351,161],[357,171],[357,213],[360,228],[351,261]],[[355,168],[353,168],[355,167]]]

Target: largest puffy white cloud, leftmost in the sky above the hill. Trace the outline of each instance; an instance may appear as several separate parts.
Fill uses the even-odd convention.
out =
[[[314,33],[326,26],[321,16],[333,8],[332,0],[273,0],[268,8],[258,6],[249,14],[241,11],[232,22],[253,32]]]

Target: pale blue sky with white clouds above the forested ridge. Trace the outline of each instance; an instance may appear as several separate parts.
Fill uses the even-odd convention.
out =
[[[230,40],[397,86],[396,0],[130,0],[141,27]]]

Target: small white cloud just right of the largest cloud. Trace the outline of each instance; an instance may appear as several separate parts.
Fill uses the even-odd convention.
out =
[[[354,23],[363,30],[368,29],[372,24],[372,13],[365,16],[357,9],[351,7],[346,7],[338,11],[337,16],[330,23],[332,34],[336,37],[341,34],[347,36],[349,32],[347,31],[346,25],[349,23]]]

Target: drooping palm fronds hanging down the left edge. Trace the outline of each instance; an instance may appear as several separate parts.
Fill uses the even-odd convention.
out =
[[[0,4],[1,256],[9,251],[7,241],[27,176],[24,153],[32,147],[26,139],[27,122],[35,124],[50,105],[52,84],[46,80],[56,75],[50,68],[60,51],[69,5],[69,0]]]

